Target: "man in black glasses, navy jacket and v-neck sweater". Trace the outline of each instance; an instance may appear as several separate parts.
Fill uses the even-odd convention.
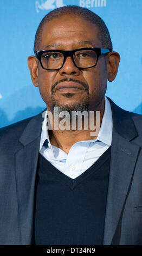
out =
[[[105,23],[58,8],[34,51],[28,66],[47,109],[1,129],[1,245],[141,245],[142,119],[105,97],[120,61]],[[62,111],[93,111],[96,128],[100,113],[101,127],[92,135],[82,115],[83,129],[76,117],[70,129]]]

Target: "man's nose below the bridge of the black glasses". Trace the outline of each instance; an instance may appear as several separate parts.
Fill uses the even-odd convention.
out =
[[[80,74],[80,69],[78,69],[70,56],[66,57],[63,67],[59,70],[60,75],[76,75]]]

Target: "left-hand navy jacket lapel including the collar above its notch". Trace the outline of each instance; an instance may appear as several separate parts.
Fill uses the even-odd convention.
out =
[[[35,178],[42,121],[41,113],[31,118],[20,138],[20,149],[15,154],[17,198],[23,245],[30,245],[33,236]]]

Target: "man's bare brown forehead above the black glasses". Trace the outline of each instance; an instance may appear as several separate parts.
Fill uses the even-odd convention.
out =
[[[48,21],[42,29],[40,50],[57,48],[73,50],[81,47],[102,47],[98,27],[74,15],[62,15]]]

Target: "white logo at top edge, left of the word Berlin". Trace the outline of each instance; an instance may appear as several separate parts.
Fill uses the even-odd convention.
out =
[[[40,10],[51,10],[55,8],[62,7],[66,4],[63,4],[63,0],[47,0],[47,1],[36,1],[36,12],[39,13]]]

